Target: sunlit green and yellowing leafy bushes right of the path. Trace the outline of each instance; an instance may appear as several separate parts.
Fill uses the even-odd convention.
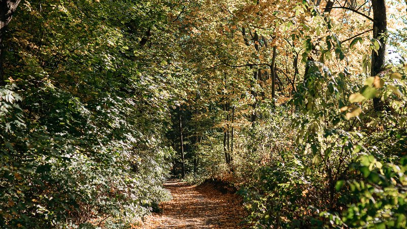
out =
[[[322,64],[310,69],[293,100],[296,148],[246,184],[247,220],[254,228],[405,227],[405,75],[393,69],[358,85]],[[368,105],[376,96],[382,112]]]

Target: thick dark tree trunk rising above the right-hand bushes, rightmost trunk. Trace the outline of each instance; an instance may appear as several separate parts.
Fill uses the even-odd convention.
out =
[[[376,76],[383,70],[386,56],[386,32],[387,32],[387,18],[386,18],[386,4],[385,0],[372,0],[373,8],[373,38],[381,43],[381,47],[372,51],[372,66],[371,76]],[[383,110],[383,102],[380,98],[373,98],[373,108],[375,111]]]

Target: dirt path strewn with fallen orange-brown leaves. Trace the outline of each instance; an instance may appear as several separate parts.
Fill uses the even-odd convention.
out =
[[[142,229],[164,228],[241,228],[245,210],[237,194],[222,193],[212,184],[190,185],[179,180],[164,184],[171,194],[160,204],[162,213],[148,216]]]

